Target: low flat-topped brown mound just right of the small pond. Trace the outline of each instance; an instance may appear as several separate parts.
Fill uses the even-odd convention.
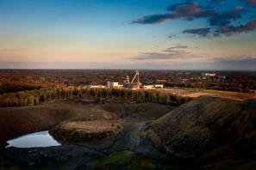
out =
[[[100,141],[115,137],[122,131],[121,120],[91,120],[63,122],[50,134],[56,140],[72,142]]]

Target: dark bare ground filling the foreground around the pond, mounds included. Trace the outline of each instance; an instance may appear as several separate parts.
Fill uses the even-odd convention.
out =
[[[253,169],[255,109],[255,100],[208,96],[178,108],[70,101],[0,108],[3,143],[58,127],[86,132],[78,141],[62,138],[57,147],[5,149],[2,145],[0,169]],[[115,134],[99,138],[97,133],[105,130]],[[97,134],[92,140],[89,131]]]

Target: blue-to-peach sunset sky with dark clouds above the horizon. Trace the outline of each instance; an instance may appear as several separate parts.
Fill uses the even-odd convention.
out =
[[[256,70],[256,0],[0,0],[0,69]]]

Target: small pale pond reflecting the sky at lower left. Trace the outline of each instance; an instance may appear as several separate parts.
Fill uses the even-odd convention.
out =
[[[49,131],[30,133],[22,137],[16,137],[6,143],[9,144],[6,148],[37,148],[61,145],[49,134]]]

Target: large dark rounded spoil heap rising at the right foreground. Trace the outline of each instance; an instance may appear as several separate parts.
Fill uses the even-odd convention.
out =
[[[256,100],[239,103],[200,97],[179,106],[148,127],[160,149],[181,158],[248,168],[256,162]],[[239,167],[238,165],[235,165]],[[211,167],[209,167],[211,168]]]

